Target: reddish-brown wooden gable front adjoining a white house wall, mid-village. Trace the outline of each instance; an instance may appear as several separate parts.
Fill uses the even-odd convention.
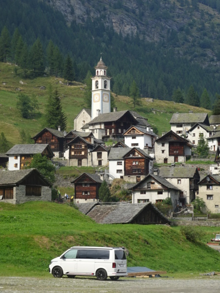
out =
[[[149,173],[149,162],[137,149],[132,149],[124,156],[124,174],[130,175],[147,175]]]

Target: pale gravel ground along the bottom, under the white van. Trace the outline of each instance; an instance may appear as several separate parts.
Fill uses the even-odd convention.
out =
[[[0,293],[216,293],[220,276],[192,279],[121,278],[98,281],[95,278],[68,279],[0,277]]]

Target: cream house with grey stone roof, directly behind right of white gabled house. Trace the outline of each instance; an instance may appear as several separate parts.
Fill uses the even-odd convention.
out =
[[[179,204],[190,204],[196,198],[200,175],[197,167],[161,167],[154,170],[159,175],[180,189]]]

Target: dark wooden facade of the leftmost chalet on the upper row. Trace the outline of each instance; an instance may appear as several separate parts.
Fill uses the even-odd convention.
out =
[[[33,139],[35,144],[49,144],[53,152],[64,152],[65,137],[60,137],[47,128],[44,128]]]

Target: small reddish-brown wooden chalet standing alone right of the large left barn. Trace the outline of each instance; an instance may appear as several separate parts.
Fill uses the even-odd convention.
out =
[[[101,186],[100,182],[95,181],[86,173],[78,177],[74,182],[75,200],[77,199],[98,199],[98,190]]]

